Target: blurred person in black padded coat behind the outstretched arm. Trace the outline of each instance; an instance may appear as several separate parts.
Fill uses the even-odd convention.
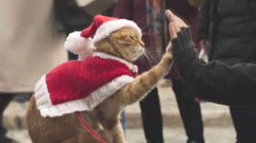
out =
[[[202,0],[197,26],[209,61],[256,63],[256,1]],[[230,113],[237,143],[255,143],[256,109],[230,107]]]

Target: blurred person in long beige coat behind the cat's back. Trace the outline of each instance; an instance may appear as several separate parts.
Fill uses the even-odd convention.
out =
[[[3,126],[4,109],[15,94],[32,94],[43,74],[67,61],[67,51],[53,1],[3,0],[0,19],[0,143],[14,143]]]

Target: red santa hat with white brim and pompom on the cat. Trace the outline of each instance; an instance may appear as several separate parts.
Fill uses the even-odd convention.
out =
[[[113,31],[124,27],[135,28],[140,37],[142,36],[140,28],[131,20],[97,15],[94,17],[91,26],[83,31],[75,31],[69,34],[64,47],[70,52],[78,54],[79,60],[82,61],[87,56],[92,55],[96,42],[105,39]]]

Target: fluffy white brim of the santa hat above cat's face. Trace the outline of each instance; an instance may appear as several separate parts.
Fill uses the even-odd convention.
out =
[[[125,20],[125,19],[119,19],[119,20],[110,20],[106,23],[103,23],[96,31],[96,34],[93,38],[93,43],[97,43],[102,39],[105,39],[109,34],[111,34],[113,31],[117,31],[120,28],[124,27],[131,27],[135,28],[136,31],[138,31],[138,34],[140,37],[142,36],[140,28],[137,26],[137,24],[131,20]]]

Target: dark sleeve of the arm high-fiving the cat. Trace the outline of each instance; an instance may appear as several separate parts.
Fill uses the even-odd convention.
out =
[[[186,96],[217,104],[256,107],[256,64],[240,63],[230,67],[219,61],[205,63],[198,58],[192,42],[180,39],[172,41],[173,60]]]

